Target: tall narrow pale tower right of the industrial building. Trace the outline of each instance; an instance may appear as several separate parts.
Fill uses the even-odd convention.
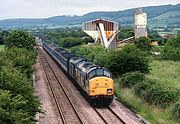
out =
[[[142,9],[134,14],[134,22],[135,39],[147,37],[147,14]]]

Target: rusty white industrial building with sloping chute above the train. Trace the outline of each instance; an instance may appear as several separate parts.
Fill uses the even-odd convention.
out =
[[[105,48],[117,48],[117,22],[105,19],[91,20],[82,24],[82,30],[91,36],[95,43],[99,41]]]

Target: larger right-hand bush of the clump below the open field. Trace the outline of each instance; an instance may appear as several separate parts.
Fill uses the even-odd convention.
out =
[[[153,80],[146,79],[135,85],[135,92],[143,97],[148,103],[166,107],[176,102],[180,96],[177,89],[159,84]]]

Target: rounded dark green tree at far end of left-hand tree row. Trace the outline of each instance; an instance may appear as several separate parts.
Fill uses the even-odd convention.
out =
[[[5,37],[5,44],[7,48],[18,47],[34,50],[36,42],[33,36],[27,32],[12,31]]]

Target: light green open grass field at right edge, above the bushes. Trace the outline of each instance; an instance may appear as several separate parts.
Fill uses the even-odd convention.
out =
[[[150,66],[152,70],[148,78],[180,89],[180,62],[154,60]]]

